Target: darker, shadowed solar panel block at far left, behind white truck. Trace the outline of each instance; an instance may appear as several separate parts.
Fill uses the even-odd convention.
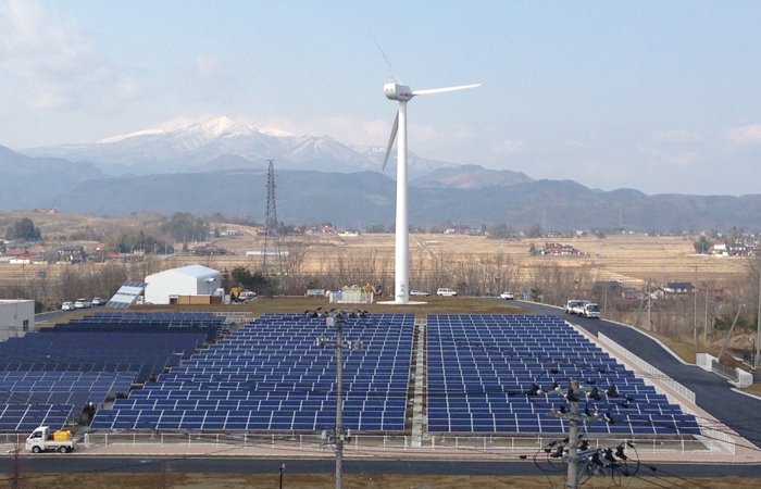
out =
[[[98,317],[0,342],[0,431],[60,429],[87,402],[128,392],[225,330],[210,313]]]

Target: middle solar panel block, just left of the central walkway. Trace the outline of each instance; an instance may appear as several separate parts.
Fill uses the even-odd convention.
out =
[[[344,425],[404,429],[414,315],[348,318]],[[103,429],[319,430],[335,424],[336,362],[316,337],[334,337],[324,317],[265,314],[194,355],[144,389],[100,410]]]

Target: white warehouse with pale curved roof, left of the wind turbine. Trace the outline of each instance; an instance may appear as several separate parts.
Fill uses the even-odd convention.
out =
[[[222,274],[202,265],[166,269],[146,277],[146,303],[169,304],[179,296],[211,296],[222,287]]]

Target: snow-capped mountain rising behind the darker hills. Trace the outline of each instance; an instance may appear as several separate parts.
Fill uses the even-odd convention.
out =
[[[296,136],[272,127],[237,124],[214,117],[172,129],[148,129],[91,145],[62,145],[22,150],[29,156],[88,161],[109,174],[199,172],[211,167],[263,167],[267,160],[285,170],[322,172],[380,171],[384,148],[349,147],[327,136]],[[222,158],[235,156],[235,158]],[[225,162],[220,168],[215,163]],[[394,165],[396,152],[389,161]],[[248,163],[247,163],[248,162]],[[410,176],[453,164],[409,156]],[[394,177],[391,168],[386,168]]]

